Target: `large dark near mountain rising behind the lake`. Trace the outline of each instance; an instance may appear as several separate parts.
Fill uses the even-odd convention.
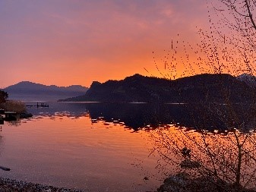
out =
[[[134,74],[124,80],[94,81],[84,96],[64,102],[244,102],[254,90],[230,74],[198,74],[177,80]]]

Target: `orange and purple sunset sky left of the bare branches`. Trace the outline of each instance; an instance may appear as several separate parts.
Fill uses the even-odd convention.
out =
[[[178,33],[197,42],[207,11],[204,0],[2,0],[0,88],[160,76],[153,57]]]

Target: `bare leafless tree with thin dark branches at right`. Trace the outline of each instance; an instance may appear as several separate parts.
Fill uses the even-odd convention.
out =
[[[246,71],[255,83],[256,2],[219,0],[214,3],[213,11],[220,20],[214,21],[216,17],[209,11],[210,30],[198,29],[201,42],[196,46],[172,40],[172,49],[163,59],[165,72],[161,74],[172,80],[170,77],[175,77],[179,65],[184,66],[184,75],[207,72],[237,76]],[[182,56],[177,54],[181,50]],[[225,84],[220,87],[223,102],[207,102],[205,93],[204,101],[186,103],[201,111],[200,122],[194,116],[194,127],[180,127],[176,122],[170,129],[160,127],[151,131],[156,143],[153,151],[162,157],[163,170],[168,167],[166,164],[172,168],[174,165],[177,172],[185,168],[185,172],[193,175],[191,178],[204,178],[219,191],[256,191],[255,87],[251,99],[240,102],[232,102],[229,87]],[[216,129],[207,131],[210,128],[207,121],[213,116]],[[218,129],[220,124],[224,131]]]

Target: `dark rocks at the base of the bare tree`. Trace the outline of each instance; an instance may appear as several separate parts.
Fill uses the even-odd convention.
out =
[[[179,173],[166,178],[157,192],[256,192],[256,190],[237,188],[211,177],[191,178],[186,173]]]

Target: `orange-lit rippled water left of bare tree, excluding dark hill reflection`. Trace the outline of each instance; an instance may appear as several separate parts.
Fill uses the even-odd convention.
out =
[[[33,118],[2,125],[1,165],[11,168],[2,177],[88,191],[146,191],[160,184],[146,131],[134,132],[115,117],[91,117],[86,104],[49,105],[29,109]]]

